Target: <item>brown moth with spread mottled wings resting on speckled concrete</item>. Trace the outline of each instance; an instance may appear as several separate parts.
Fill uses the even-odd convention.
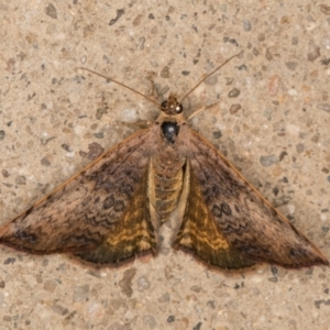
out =
[[[118,263],[143,252],[156,254],[158,229],[175,212],[173,246],[211,265],[329,265],[314,243],[189,127],[175,95],[158,108],[151,127],[0,228],[0,243],[36,254],[72,252],[97,264]]]

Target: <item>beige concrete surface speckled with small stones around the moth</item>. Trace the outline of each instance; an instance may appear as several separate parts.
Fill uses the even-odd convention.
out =
[[[330,4],[1,1],[1,223],[184,95],[193,120],[330,257]],[[208,268],[164,249],[121,267],[0,248],[0,329],[330,329],[330,270]]]

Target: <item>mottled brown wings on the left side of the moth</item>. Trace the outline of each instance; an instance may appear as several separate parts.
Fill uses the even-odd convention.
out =
[[[3,226],[0,243],[32,253],[88,250],[80,256],[95,262],[155,249],[146,198],[150,139],[151,131],[141,130],[108,151]]]

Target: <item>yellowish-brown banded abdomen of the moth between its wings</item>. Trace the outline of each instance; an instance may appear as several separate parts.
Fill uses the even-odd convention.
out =
[[[168,148],[152,160],[151,164],[151,201],[155,206],[163,223],[176,208],[183,188],[184,165],[186,160]]]

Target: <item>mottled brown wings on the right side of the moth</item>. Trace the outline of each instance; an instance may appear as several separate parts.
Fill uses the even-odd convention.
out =
[[[179,244],[190,244],[200,257],[228,268],[245,266],[249,261],[285,267],[329,264],[326,256],[257,194],[211,144],[197,132],[189,131],[186,142],[191,188]],[[191,242],[185,239],[185,232],[190,229],[196,238],[195,241],[190,239]],[[202,246],[200,242],[207,243]],[[216,251],[208,251],[208,248]],[[222,251],[217,258],[219,250]]]

